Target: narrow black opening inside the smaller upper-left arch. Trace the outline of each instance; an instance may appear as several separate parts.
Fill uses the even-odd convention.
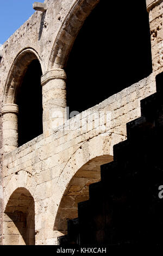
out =
[[[17,92],[18,115],[18,146],[39,136],[42,127],[42,87],[41,65],[34,59],[28,65],[21,86]]]

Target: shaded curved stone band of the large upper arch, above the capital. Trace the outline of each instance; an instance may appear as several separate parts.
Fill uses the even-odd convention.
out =
[[[51,51],[49,68],[64,68],[80,28],[100,0],[77,0],[72,5],[59,30]]]

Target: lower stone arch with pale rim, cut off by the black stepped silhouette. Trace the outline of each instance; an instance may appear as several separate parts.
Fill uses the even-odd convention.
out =
[[[114,133],[99,135],[80,145],[68,161],[53,194],[53,200],[57,199],[53,227],[57,236],[66,234],[67,220],[78,216],[78,203],[89,199],[89,185],[101,180],[100,166],[113,160],[112,144],[124,139]]]

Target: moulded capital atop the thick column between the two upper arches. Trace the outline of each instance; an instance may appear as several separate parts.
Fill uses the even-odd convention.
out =
[[[47,71],[44,75],[41,76],[41,85],[44,86],[48,81],[54,79],[66,80],[66,72],[64,69],[53,69]]]

